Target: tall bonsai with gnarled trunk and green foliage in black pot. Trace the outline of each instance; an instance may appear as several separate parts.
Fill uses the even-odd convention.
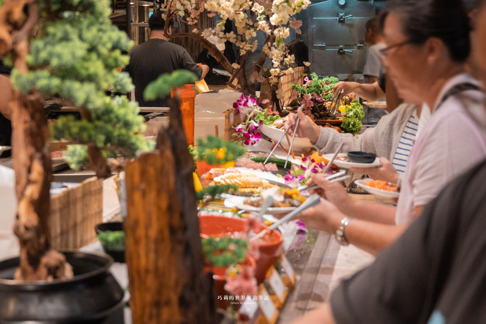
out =
[[[1,2],[1,1],[0,1]],[[51,249],[47,220],[52,178],[46,99],[62,98],[79,107],[81,120],[52,124],[54,138],[76,145],[66,155],[72,166],[89,163],[98,177],[110,175],[106,158],[133,156],[150,145],[142,135],[136,103],[106,95],[126,93],[132,42],[112,26],[108,0],[3,0],[0,55],[13,64],[12,143],[20,267],[17,280],[72,276],[65,257]]]

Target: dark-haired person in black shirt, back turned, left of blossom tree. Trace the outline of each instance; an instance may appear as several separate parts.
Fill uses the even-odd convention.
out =
[[[168,34],[172,34],[174,22],[169,21]],[[169,42],[164,34],[165,20],[159,11],[149,18],[150,39],[137,45],[130,51],[130,63],[125,70],[130,74],[135,85],[135,100],[141,107],[166,107],[166,101],[157,99],[145,101],[145,87],[163,73],[172,73],[178,69],[194,72],[199,80],[208,73],[208,66],[197,66],[189,53],[181,46]]]

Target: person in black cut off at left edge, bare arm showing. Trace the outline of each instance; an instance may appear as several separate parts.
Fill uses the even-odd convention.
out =
[[[8,106],[12,93],[10,83],[11,68],[0,60],[0,146],[10,146],[12,137],[12,125],[10,119],[12,112]],[[9,157],[10,150],[3,152],[0,157]]]

